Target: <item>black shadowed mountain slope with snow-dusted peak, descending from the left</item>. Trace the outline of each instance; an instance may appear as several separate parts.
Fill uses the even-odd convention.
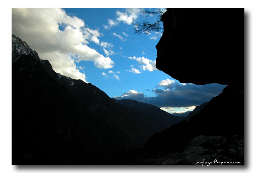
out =
[[[123,151],[182,119],[56,73],[12,35],[13,165],[124,164]]]

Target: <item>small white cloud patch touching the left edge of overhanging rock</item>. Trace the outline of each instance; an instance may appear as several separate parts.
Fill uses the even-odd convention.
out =
[[[128,57],[129,59],[134,59],[134,60],[137,60],[139,62],[139,64],[144,64],[142,66],[140,66],[140,68],[143,70],[143,71],[154,71],[154,70],[158,70],[156,67],[155,67],[155,63],[156,61],[155,60],[150,60],[150,59],[147,59],[147,58],[144,58],[144,57]]]

